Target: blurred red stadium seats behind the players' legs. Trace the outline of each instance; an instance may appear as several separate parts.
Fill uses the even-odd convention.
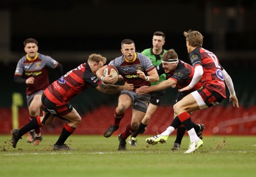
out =
[[[12,130],[12,110],[10,108],[0,109],[0,134],[10,134]],[[100,105],[97,109],[86,112],[82,116],[82,122],[78,125],[74,134],[104,134],[106,128],[113,123],[115,105]],[[114,133],[120,134],[131,121],[132,109],[125,112],[120,123],[120,128]],[[20,108],[19,126],[28,123],[28,109]],[[163,132],[172,122],[172,105],[160,106],[154,113],[148,124],[145,134],[157,134]],[[251,107],[241,106],[239,109],[231,105],[224,107],[218,105],[209,109],[195,111],[191,114],[195,123],[204,123],[205,135],[253,135],[256,133],[256,105]],[[43,134],[60,134],[65,121],[56,118],[51,126],[43,127]]]

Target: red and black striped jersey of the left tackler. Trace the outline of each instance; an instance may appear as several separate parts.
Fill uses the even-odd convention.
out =
[[[97,88],[101,82],[92,73],[88,63],[83,63],[61,76],[57,81],[54,81],[45,89],[44,94],[55,104],[67,104],[71,98],[81,93],[84,89],[90,86]]]

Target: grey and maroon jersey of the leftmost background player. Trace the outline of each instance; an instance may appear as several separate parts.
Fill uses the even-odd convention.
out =
[[[36,59],[28,59],[26,55],[19,60],[14,75],[20,75],[26,79],[35,78],[34,84],[26,84],[26,94],[31,95],[49,86],[47,67],[54,69],[58,65],[58,61],[50,56],[38,53]]]

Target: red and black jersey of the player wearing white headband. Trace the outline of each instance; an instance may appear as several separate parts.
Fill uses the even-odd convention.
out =
[[[177,68],[173,72],[166,73],[166,79],[173,79],[173,81],[177,82],[177,88],[182,89],[190,84],[190,82],[192,81],[194,72],[195,72],[195,69],[193,68],[193,66],[179,59]],[[165,73],[162,63],[159,66],[157,66],[157,73],[158,75]],[[191,93],[196,89],[202,88],[202,86],[203,86],[202,81],[199,81],[196,83],[193,89],[190,89],[189,91],[183,91],[183,92]]]

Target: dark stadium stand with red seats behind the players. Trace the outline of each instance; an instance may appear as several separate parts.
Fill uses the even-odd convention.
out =
[[[256,134],[256,3],[236,1],[117,1],[117,0],[2,0],[0,1],[0,134],[12,129],[12,95],[21,93],[19,125],[28,120],[25,85],[13,82],[17,61],[24,56],[22,42],[38,40],[39,52],[60,61],[64,72],[75,68],[96,52],[108,61],[120,56],[120,42],[132,38],[137,52],[151,47],[152,33],[164,31],[164,49],[173,48],[188,62],[183,31],[195,29],[204,36],[204,47],[216,53],[233,79],[240,109],[228,100],[221,105],[193,112],[196,123],[204,123],[205,134]],[[50,77],[56,79],[49,70]],[[54,81],[53,79],[51,81]],[[176,89],[168,89],[145,134],[163,131],[171,122]],[[229,95],[229,94],[228,94]],[[75,134],[103,134],[112,123],[118,94],[106,95],[88,89],[72,100],[83,117]],[[121,127],[131,118],[125,113]],[[57,134],[63,121],[42,128]],[[115,132],[122,132],[122,128]]]

